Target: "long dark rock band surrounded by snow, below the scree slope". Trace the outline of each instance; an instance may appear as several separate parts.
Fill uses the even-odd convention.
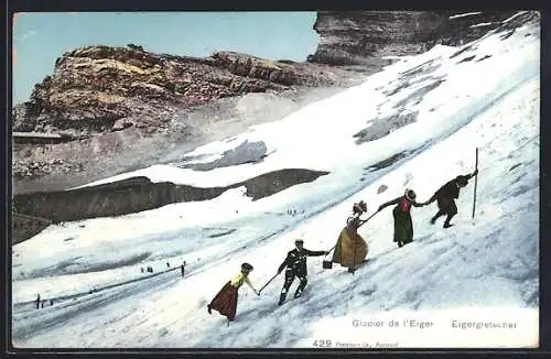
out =
[[[198,188],[170,182],[152,183],[132,177],[104,185],[72,191],[28,193],[13,196],[13,211],[19,214],[12,226],[13,242],[20,242],[48,226],[47,220],[71,221],[95,217],[121,216],[154,209],[172,203],[207,200],[230,188],[245,186],[246,195],[257,200],[301,183],[315,181],[328,172],[285,168],[235,183],[227,187]],[[44,218],[29,229],[29,217]],[[32,217],[31,217],[32,218]]]

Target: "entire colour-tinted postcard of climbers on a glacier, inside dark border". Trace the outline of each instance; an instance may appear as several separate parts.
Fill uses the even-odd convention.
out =
[[[12,25],[14,349],[539,347],[537,11]]]

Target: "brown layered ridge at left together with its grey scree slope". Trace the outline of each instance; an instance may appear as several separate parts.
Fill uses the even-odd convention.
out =
[[[312,97],[305,89],[352,84],[348,72],[327,65],[233,52],[198,58],[136,45],[77,48],[57,58],[30,101],[13,109],[13,131],[62,132],[76,140],[14,145],[14,192],[62,189],[153,164],[174,146],[190,151],[329,96]],[[274,98],[282,109],[277,118],[266,106],[253,111]]]

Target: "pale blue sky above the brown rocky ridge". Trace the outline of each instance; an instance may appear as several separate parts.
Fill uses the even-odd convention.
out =
[[[64,52],[85,45],[142,45],[151,52],[207,56],[228,50],[305,61],[318,36],[315,12],[19,13],[13,29],[13,102],[26,101]]]

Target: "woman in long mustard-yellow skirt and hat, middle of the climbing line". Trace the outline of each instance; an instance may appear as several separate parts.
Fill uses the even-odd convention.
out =
[[[358,235],[358,228],[366,222],[366,220],[359,218],[367,211],[366,203],[364,200],[355,203],[352,211],[352,216],[346,219],[346,226],[338,235],[332,261],[339,263],[342,266],[347,266],[348,272],[354,273],[366,259],[368,251],[366,241]]]

